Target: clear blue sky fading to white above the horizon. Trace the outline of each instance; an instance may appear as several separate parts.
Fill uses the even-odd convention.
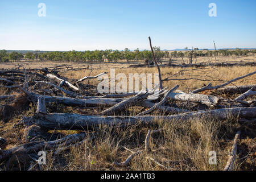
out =
[[[38,4],[46,4],[46,17]],[[210,17],[216,3],[217,17]],[[0,49],[256,48],[256,1],[0,1]]]

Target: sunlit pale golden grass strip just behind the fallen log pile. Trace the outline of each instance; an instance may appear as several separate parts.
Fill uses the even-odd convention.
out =
[[[112,68],[112,67],[110,67]],[[110,78],[110,68],[102,68],[102,69],[93,69],[91,72],[90,70],[82,70],[82,71],[67,71],[63,72],[63,76],[67,78],[73,78],[74,80],[80,79],[86,75],[95,76],[102,72],[108,72],[108,76]],[[212,82],[212,85],[222,84],[226,81],[232,80],[233,78],[240,77],[246,75],[248,73],[254,72],[256,67],[218,67],[218,68],[204,68],[204,69],[195,69],[195,68],[161,68],[162,78],[175,78],[175,79],[182,79],[182,78],[195,78],[195,80],[181,80],[181,81],[164,81],[163,86],[172,88],[176,84],[179,84],[180,90],[187,91],[188,89],[196,89],[202,87],[204,84],[208,84]],[[183,72],[181,72],[184,70]],[[157,68],[115,68],[115,75],[118,73],[125,73],[127,77],[127,84],[128,84],[128,77],[129,73],[158,73]],[[178,73],[178,74],[176,74]],[[173,76],[175,75],[175,76]],[[200,79],[200,80],[196,80]],[[202,81],[203,80],[203,81]],[[205,81],[204,81],[205,80]],[[84,81],[85,84],[87,81]],[[118,81],[116,81],[118,82]],[[152,82],[154,82],[154,76],[152,76]],[[256,82],[256,75],[243,78],[242,80],[238,80],[233,82],[230,85],[247,85],[247,84],[255,84]],[[89,82],[91,85],[97,86],[99,81],[97,79],[90,80]],[[128,86],[127,86],[128,88]]]

